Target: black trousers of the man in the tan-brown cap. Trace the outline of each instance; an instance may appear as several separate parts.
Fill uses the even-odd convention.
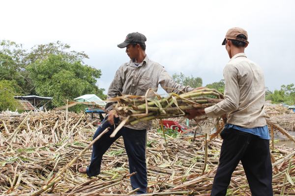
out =
[[[232,173],[241,161],[252,196],[272,196],[269,140],[233,128],[224,129],[219,165],[211,196],[225,196]]]

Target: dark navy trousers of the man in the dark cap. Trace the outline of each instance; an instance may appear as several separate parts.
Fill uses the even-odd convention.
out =
[[[130,177],[132,189],[140,188],[138,194],[146,193],[148,186],[147,164],[146,164],[146,138],[147,130],[135,130],[122,127],[114,138],[110,135],[114,131],[107,118],[98,126],[94,133],[93,140],[101,134],[107,127],[110,130],[106,132],[97,142],[93,144],[91,163],[87,168],[88,176],[95,176],[100,173],[100,166],[103,154],[120,137],[123,137],[124,146],[129,161],[129,172],[137,172]]]

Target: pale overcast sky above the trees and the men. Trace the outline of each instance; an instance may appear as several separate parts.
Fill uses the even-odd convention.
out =
[[[0,7],[0,40],[28,49],[59,40],[85,51],[85,62],[102,71],[100,88],[129,60],[117,45],[136,31],[171,75],[219,81],[229,61],[221,43],[234,26],[248,31],[245,52],[263,68],[266,87],[295,83],[295,0],[5,0]]]

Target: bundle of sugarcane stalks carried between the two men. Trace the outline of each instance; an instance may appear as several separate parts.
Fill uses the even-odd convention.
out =
[[[166,98],[155,93],[153,98],[148,98],[150,91],[151,89],[147,91],[146,96],[125,95],[107,100],[117,101],[114,109],[120,119],[123,119],[122,126],[152,119],[184,116],[185,110],[206,108],[223,99],[223,95],[217,90],[204,87],[180,95],[170,93]]]

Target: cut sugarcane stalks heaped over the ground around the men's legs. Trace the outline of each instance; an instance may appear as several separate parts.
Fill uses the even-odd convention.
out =
[[[280,127],[271,124],[275,131]],[[222,127],[219,127],[222,128]],[[66,111],[0,116],[0,195],[132,195],[128,158],[118,139],[103,156],[101,173],[88,178],[78,171],[89,164],[96,127],[84,114]],[[208,196],[216,173],[219,138],[176,138],[148,131],[148,194]],[[99,139],[98,141],[99,142]],[[275,143],[275,141],[273,141]],[[294,148],[271,147],[275,194],[295,195]],[[229,194],[250,195],[242,166],[233,173]]]

